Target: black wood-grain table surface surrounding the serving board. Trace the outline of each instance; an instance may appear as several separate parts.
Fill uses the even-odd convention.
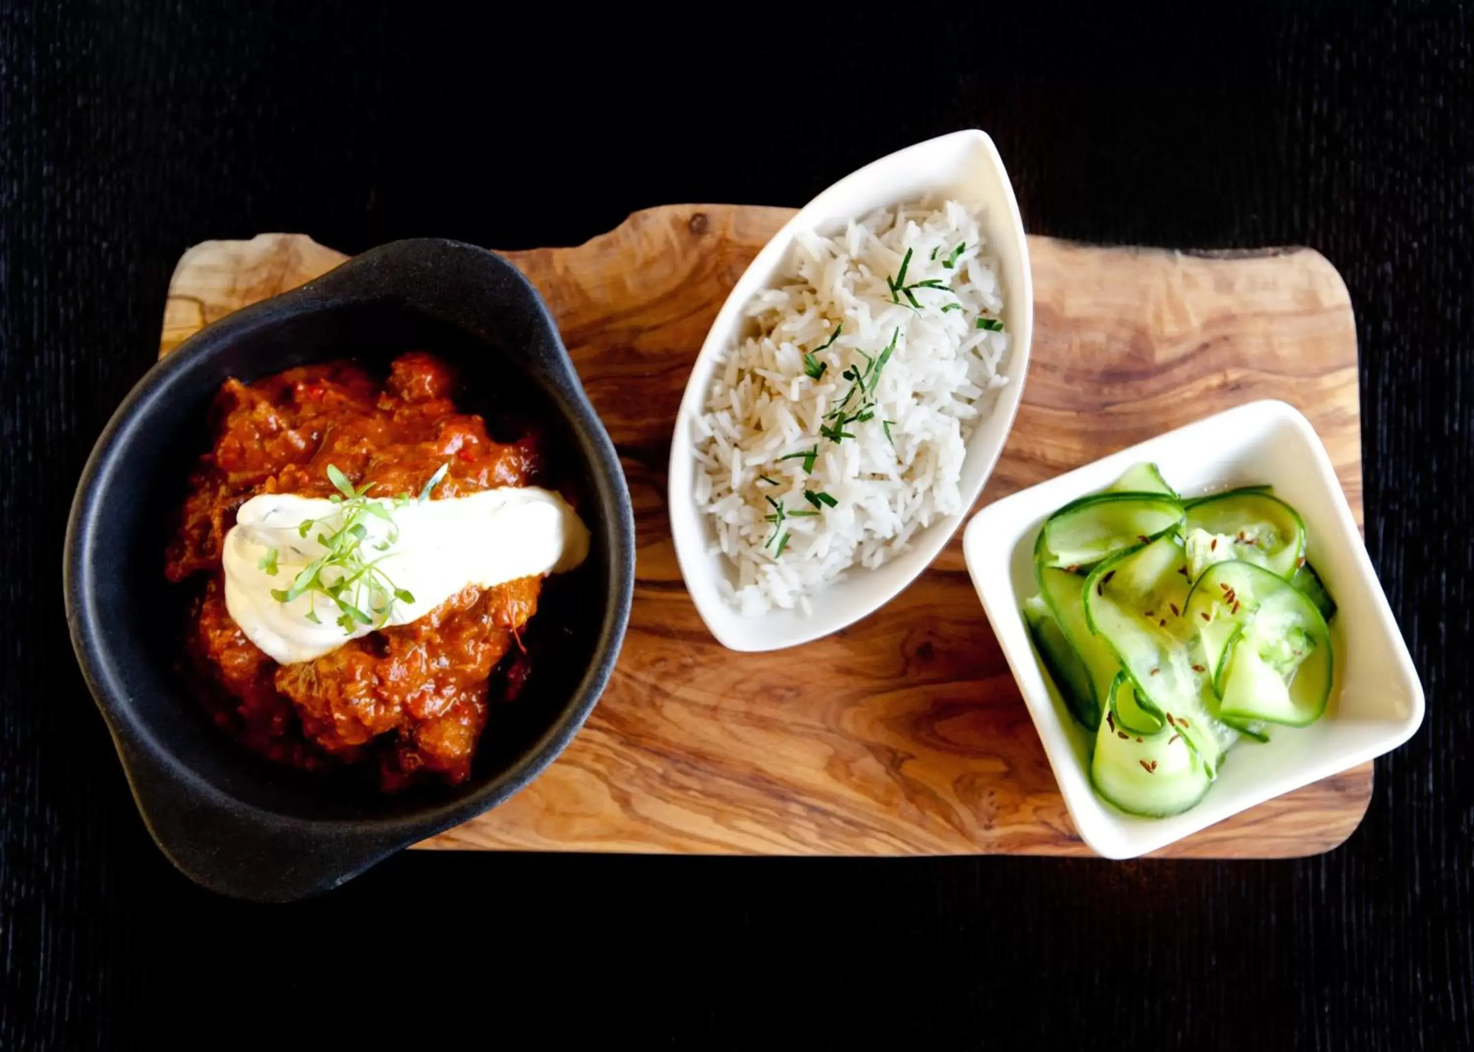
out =
[[[215,6],[0,6],[0,1048],[259,1046],[301,1009],[336,1048],[454,1024],[678,1048],[1474,1046],[1467,13],[772,7],[616,43],[572,9],[467,27]],[[77,673],[60,550],[186,246],[573,243],[646,205],[799,205],[965,125],[998,140],[1033,231],[1302,243],[1346,276],[1366,542],[1428,694],[1346,846],[1114,865],[417,853],[284,908],[174,874]]]

